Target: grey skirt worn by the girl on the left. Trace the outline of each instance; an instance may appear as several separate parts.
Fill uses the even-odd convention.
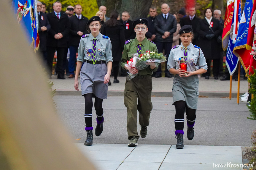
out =
[[[84,62],[80,71],[82,95],[93,93],[93,97],[107,98],[108,83],[104,84],[107,66],[103,64],[90,64]]]

